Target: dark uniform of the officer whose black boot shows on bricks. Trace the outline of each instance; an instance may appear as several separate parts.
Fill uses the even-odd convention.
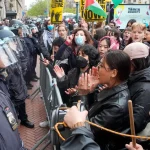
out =
[[[8,67],[7,71],[9,74],[7,81],[11,100],[19,113],[19,119],[21,121],[26,121],[27,114],[25,111],[25,99],[27,98],[28,94],[21,67],[19,64],[15,64],[11,67]]]

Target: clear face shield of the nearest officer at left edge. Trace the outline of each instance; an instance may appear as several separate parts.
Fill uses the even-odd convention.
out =
[[[13,51],[9,48],[8,44],[3,43],[0,45],[0,68],[6,68],[17,62],[17,58]]]

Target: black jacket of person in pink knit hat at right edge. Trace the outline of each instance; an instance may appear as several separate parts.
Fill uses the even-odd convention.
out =
[[[128,86],[133,102],[135,130],[138,133],[150,121],[150,67],[133,73]]]

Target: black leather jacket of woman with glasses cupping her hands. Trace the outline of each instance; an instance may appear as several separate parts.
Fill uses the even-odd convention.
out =
[[[126,133],[126,129],[130,128],[126,123],[129,120],[128,100],[130,100],[130,94],[127,83],[101,91],[97,102],[89,110],[90,121],[108,129]],[[107,149],[106,147],[109,147],[110,150],[117,150],[124,147],[126,143],[120,136],[92,126],[91,129],[96,137],[96,142],[104,150]]]

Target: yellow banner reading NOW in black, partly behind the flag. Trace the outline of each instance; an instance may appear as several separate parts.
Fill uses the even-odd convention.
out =
[[[97,2],[101,5],[103,10],[106,12],[106,1],[105,0],[97,0]],[[85,10],[84,5],[85,5],[85,0],[80,0],[81,17],[84,18],[87,22],[106,20],[104,17],[94,14],[91,10]]]

